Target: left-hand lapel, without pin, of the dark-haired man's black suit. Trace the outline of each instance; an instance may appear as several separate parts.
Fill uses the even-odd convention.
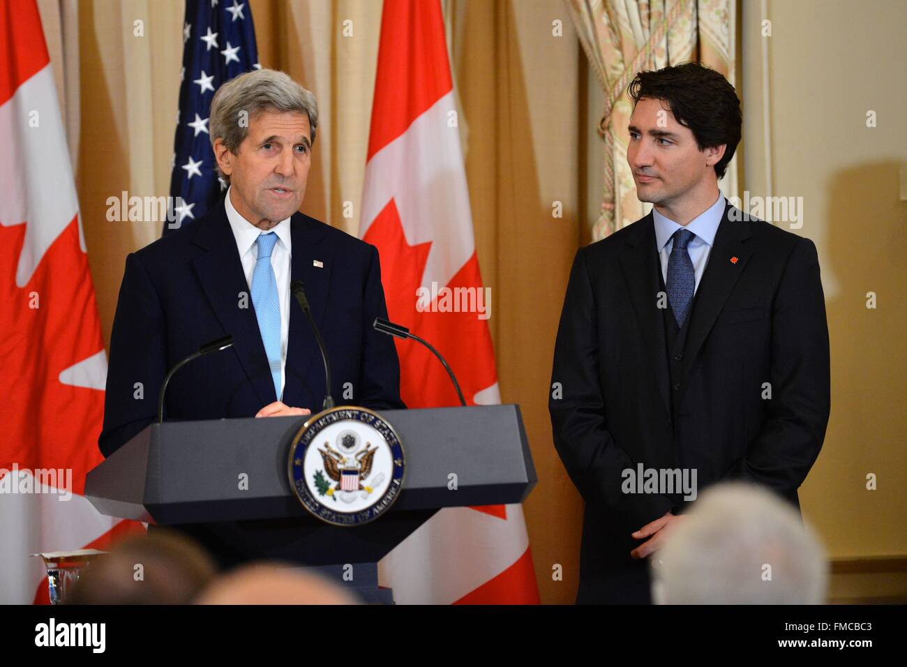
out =
[[[620,255],[620,268],[627,281],[630,301],[639,322],[643,348],[649,352],[649,361],[654,373],[655,384],[661,402],[668,415],[671,414],[668,399],[668,358],[665,343],[665,327],[658,309],[658,292],[661,283],[658,273],[658,248],[655,242],[655,221],[649,213],[633,223],[634,233],[628,234],[628,248]]]

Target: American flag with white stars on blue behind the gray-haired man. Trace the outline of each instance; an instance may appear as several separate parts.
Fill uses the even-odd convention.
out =
[[[171,174],[171,201],[181,202],[172,211],[175,220],[164,224],[165,235],[200,218],[226,190],[211,151],[211,98],[221,83],[261,68],[249,0],[186,0],[182,41]]]

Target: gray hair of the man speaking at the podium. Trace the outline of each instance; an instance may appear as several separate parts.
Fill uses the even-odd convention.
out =
[[[239,144],[249,134],[249,123],[264,111],[305,113],[315,143],[318,126],[318,103],[315,95],[278,70],[253,70],[239,74],[218,88],[211,100],[209,132],[211,146],[222,139],[229,152],[239,151]],[[229,181],[229,176],[220,172]]]

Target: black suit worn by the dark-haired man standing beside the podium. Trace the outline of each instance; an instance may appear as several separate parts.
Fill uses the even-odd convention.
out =
[[[684,510],[679,495],[622,493],[626,468],[696,468],[698,493],[747,480],[799,508],[831,402],[819,262],[811,240],[745,217],[727,203],[674,385],[652,214],[573,261],[549,409],[585,501],[578,603],[650,602],[648,564],[629,556],[642,541],[630,534]]]

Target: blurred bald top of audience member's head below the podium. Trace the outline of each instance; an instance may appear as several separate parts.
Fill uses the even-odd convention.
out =
[[[297,567],[251,564],[214,580],[199,604],[357,604],[342,588]]]

